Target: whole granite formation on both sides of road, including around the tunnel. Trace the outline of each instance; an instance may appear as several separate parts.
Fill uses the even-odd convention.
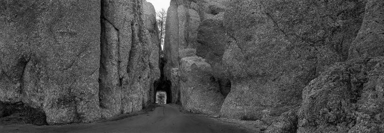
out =
[[[1,107],[89,123],[155,102],[267,133],[384,132],[383,0],[0,1]],[[161,54],[164,52],[164,56]]]

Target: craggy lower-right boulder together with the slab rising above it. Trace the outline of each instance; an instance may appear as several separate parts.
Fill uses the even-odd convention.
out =
[[[384,132],[383,6],[382,0],[367,1],[351,60],[329,67],[303,90],[298,133]]]

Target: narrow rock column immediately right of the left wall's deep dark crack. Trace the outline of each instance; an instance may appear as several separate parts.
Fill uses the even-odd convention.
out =
[[[109,16],[112,3],[101,1],[101,36],[100,36],[100,69],[99,69],[99,106],[102,118],[109,119],[120,114],[121,110],[121,34],[115,25],[113,16]]]

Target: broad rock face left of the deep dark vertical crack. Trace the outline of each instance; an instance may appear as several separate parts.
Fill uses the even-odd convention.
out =
[[[100,1],[0,1],[0,101],[99,120]]]

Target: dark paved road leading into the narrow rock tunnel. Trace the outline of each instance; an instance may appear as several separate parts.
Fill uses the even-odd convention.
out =
[[[70,132],[70,133],[247,133],[235,125],[220,120],[185,114],[170,105],[161,105],[148,114],[118,121],[66,126],[0,126],[1,133]]]

